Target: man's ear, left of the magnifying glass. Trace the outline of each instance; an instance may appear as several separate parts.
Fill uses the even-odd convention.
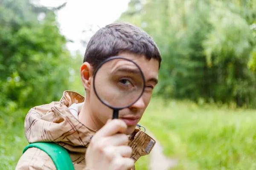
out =
[[[88,62],[84,62],[80,69],[82,84],[86,91],[90,91],[91,79],[93,77],[92,66]]]

